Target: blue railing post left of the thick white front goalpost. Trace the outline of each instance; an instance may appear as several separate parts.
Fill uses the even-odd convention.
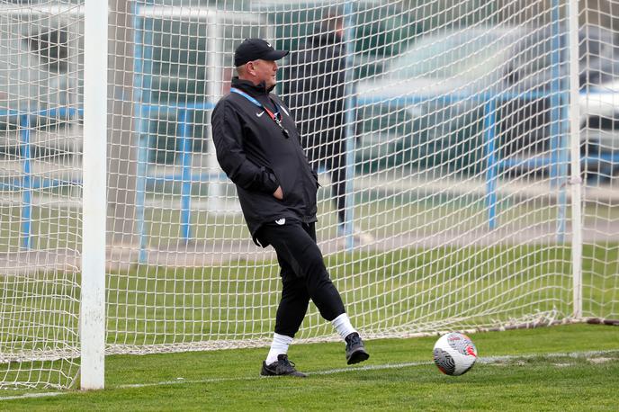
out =
[[[31,116],[20,115],[20,156],[22,157],[22,247],[31,249],[32,224],[32,176],[31,176]]]

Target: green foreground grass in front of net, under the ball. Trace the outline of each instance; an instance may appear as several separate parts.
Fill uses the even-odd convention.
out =
[[[105,390],[3,399],[0,409],[616,410],[619,328],[571,325],[471,337],[480,362],[460,377],[431,363],[435,337],[369,341],[372,357],[359,367],[345,366],[342,344],[292,345],[289,355],[310,373],[307,379],[259,378],[265,348],[115,355],[107,357]],[[601,352],[585,354],[591,351]],[[565,353],[579,356],[558,355]],[[22,393],[5,390],[0,397]]]

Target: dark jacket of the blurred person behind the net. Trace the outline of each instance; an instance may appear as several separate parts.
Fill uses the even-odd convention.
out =
[[[287,101],[307,148],[336,145],[344,136],[345,66],[344,45],[332,32],[291,55]]]

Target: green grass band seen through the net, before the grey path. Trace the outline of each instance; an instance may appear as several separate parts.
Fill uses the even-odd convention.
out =
[[[617,262],[618,254],[615,247],[585,248],[584,255],[593,256],[583,262],[586,317],[619,317],[619,277],[616,265],[607,264]],[[569,263],[569,246],[437,247],[327,257],[354,325],[368,334],[568,317],[573,310]],[[0,353],[49,349],[46,345],[57,342],[76,347],[79,284],[79,276],[72,273],[0,277]],[[118,349],[123,344],[266,342],[274,328],[279,290],[274,262],[109,273],[108,344]],[[310,305],[298,337],[331,333]],[[31,369],[42,370],[42,381],[58,381],[48,377],[54,374],[48,369],[73,377],[76,365],[37,363],[20,369],[0,363],[0,378],[36,381]]]

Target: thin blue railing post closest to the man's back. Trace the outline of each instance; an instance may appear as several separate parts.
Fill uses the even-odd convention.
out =
[[[192,198],[192,139],[188,109],[179,112],[178,135],[181,138],[181,237],[185,242],[191,238],[191,198]]]

